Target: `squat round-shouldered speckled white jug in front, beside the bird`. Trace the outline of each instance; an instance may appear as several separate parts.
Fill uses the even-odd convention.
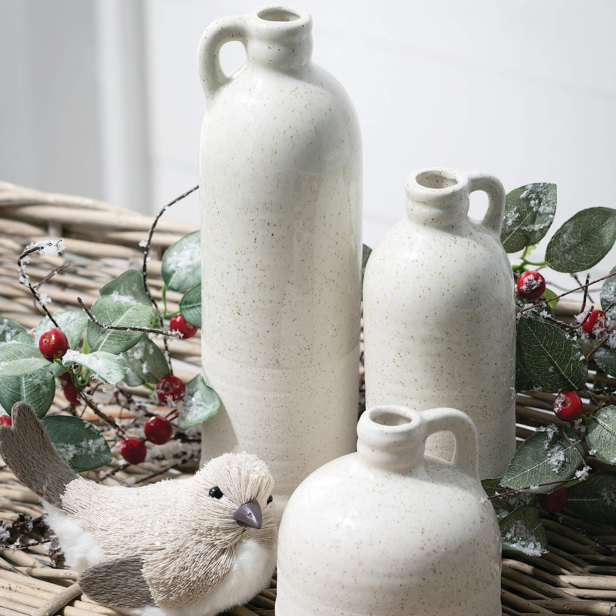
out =
[[[451,463],[424,455],[441,430]],[[468,415],[375,407],[357,437],[286,506],[276,616],[500,616],[500,530]]]

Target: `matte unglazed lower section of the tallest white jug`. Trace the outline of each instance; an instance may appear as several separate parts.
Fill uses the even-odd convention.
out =
[[[312,471],[355,451],[359,345],[333,362],[275,370],[230,362],[203,344],[203,375],[221,397],[203,424],[201,460],[254,453],[285,500]]]

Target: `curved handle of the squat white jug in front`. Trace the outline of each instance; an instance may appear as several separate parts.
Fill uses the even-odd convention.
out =
[[[455,408],[431,408],[421,411],[426,422],[426,436],[434,432],[452,432],[455,440],[452,464],[479,481],[479,441],[472,419]]]

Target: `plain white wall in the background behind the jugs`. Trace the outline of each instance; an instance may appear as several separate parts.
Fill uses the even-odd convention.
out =
[[[197,43],[214,18],[254,6],[0,0],[0,178],[141,211],[197,184]],[[303,6],[314,18],[314,61],[359,114],[368,245],[403,216],[405,176],[425,166],[485,169],[507,190],[555,182],[553,230],[580,209],[616,207],[615,2]],[[242,56],[224,49],[224,67]],[[471,213],[484,208],[475,197]],[[198,222],[196,195],[172,215]],[[593,274],[615,264],[612,251]]]

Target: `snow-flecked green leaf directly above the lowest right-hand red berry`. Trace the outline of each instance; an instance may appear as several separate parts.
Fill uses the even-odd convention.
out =
[[[582,442],[573,429],[568,426],[565,432],[582,453]],[[517,448],[501,484],[511,490],[519,490],[528,485],[571,479],[580,464],[582,460],[565,439],[562,428],[551,424],[545,428],[537,428],[537,431]],[[532,491],[535,494],[548,494],[555,489],[554,485],[542,485]]]

